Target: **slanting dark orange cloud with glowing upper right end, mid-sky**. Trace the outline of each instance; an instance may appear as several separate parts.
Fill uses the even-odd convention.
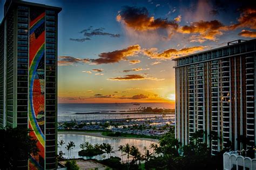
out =
[[[136,56],[139,51],[139,45],[131,45],[123,50],[100,53],[100,58],[91,59],[91,62],[96,64],[118,63],[120,60],[126,59],[126,57]]]

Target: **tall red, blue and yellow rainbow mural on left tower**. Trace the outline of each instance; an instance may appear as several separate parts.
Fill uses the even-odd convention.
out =
[[[45,11],[30,8],[29,23],[29,128],[30,136],[37,140],[38,155],[31,155],[29,169],[44,169],[44,54],[45,54]]]

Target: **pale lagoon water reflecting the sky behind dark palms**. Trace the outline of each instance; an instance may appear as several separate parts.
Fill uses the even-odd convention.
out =
[[[114,147],[114,151],[116,151],[115,153],[111,153],[111,156],[121,158],[121,152],[118,151],[118,146],[120,145],[125,145],[128,143],[130,145],[137,146],[140,152],[144,152],[143,147],[146,146],[147,149],[149,149],[152,152],[152,149],[150,149],[150,144],[153,143],[151,141],[141,139],[111,139],[79,134],[58,134],[58,141],[61,139],[63,139],[65,142],[64,146],[62,146],[62,151],[63,153],[65,153],[64,157],[68,157],[68,151],[65,149],[65,146],[68,144],[69,141],[73,141],[75,142],[76,147],[71,150],[71,158],[92,158],[98,160],[104,159],[104,155],[106,155],[107,158],[107,154],[97,155],[95,157],[80,157],[78,155],[78,152],[81,150],[79,145],[84,143],[85,141],[89,141],[92,145],[109,143]],[[124,155],[124,160],[126,160],[126,155]]]

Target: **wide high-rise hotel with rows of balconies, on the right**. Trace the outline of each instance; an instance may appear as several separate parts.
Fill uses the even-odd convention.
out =
[[[176,70],[176,138],[189,144],[191,134],[205,131],[212,154],[230,141],[242,146],[243,135],[255,145],[256,39],[174,58]],[[212,131],[220,139],[210,141]]]

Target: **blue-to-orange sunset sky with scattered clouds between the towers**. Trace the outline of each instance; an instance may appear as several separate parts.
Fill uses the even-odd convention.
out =
[[[174,103],[173,58],[256,37],[253,2],[28,1],[62,8],[59,103]]]

